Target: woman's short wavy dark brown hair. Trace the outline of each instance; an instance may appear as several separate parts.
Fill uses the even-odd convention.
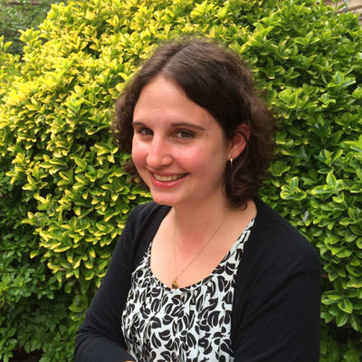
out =
[[[116,103],[112,131],[123,152],[131,153],[133,111],[141,90],[157,76],[164,76],[185,91],[186,96],[207,110],[232,139],[246,123],[251,134],[242,154],[225,164],[224,192],[230,207],[245,206],[257,195],[269,175],[274,149],[275,121],[244,62],[218,43],[194,39],[165,43],[128,83]],[[129,159],[124,165],[134,181],[148,188]]]

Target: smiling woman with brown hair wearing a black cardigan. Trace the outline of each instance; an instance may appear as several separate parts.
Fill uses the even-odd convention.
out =
[[[76,341],[76,361],[319,360],[319,257],[257,198],[274,123],[232,52],[167,43],[113,128],[148,187]]]

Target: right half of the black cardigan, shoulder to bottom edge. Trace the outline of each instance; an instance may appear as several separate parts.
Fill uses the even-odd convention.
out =
[[[235,362],[318,362],[319,254],[275,212],[258,217],[233,300]]]

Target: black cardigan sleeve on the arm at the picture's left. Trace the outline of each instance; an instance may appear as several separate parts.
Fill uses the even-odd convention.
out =
[[[126,303],[132,264],[131,245],[136,233],[129,216],[112,255],[109,269],[90,304],[75,341],[76,362],[121,362],[135,360],[126,351],[121,331],[121,310]]]

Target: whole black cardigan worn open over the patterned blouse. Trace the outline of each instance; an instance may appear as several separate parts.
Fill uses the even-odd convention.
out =
[[[257,214],[244,245],[233,298],[234,360],[318,362],[319,255],[268,205],[260,199],[254,202]],[[109,270],[79,329],[76,362],[134,360],[126,351],[120,317],[131,272],[168,210],[151,202],[129,215]]]

